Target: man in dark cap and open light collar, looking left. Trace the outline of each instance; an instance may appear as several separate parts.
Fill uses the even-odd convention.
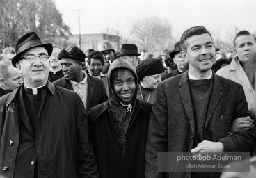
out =
[[[77,92],[88,113],[90,108],[106,102],[108,97],[102,79],[90,76],[82,70],[85,58],[86,55],[78,47],[61,50],[58,60],[61,60],[64,77],[53,84]]]

